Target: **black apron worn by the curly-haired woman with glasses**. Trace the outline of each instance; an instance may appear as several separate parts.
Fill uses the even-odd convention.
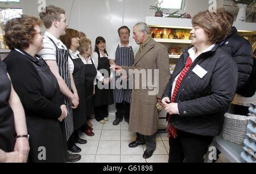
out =
[[[20,50],[20,49],[19,49]],[[49,66],[42,58],[36,60],[26,52],[20,50],[24,56],[33,63],[40,79],[42,80],[43,89],[42,95],[49,101],[60,107],[61,94],[57,79],[52,74]],[[67,152],[67,145],[63,134],[64,123],[57,119],[26,116],[27,130],[30,135],[30,154],[28,156],[29,162],[32,163],[64,163],[65,153]],[[46,160],[39,160],[39,147],[46,148]]]

